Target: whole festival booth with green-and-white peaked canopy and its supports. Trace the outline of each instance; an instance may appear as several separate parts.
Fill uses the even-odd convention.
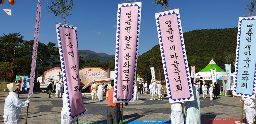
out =
[[[204,67],[201,71],[196,73],[196,80],[202,80],[205,81],[206,84],[210,81],[212,84],[212,79],[211,79],[211,72],[210,69],[216,69],[217,72],[217,83],[221,86],[221,89],[224,89],[223,85],[223,76],[227,75],[226,71],[221,69],[214,61],[211,59],[211,62]],[[225,85],[226,86],[226,85]]]

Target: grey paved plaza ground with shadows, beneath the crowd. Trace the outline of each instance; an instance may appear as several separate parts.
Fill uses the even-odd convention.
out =
[[[54,94],[55,95],[55,94]],[[8,92],[0,93],[0,124],[3,123],[4,99]],[[28,94],[20,94],[20,99],[26,101]],[[48,98],[46,93],[34,94],[30,105],[28,124],[60,123],[62,98]],[[168,98],[149,100],[149,94],[139,95],[139,100],[124,107],[124,121],[170,120],[170,103]],[[201,94],[201,119],[241,118],[241,97],[219,96],[217,100],[209,101]],[[87,115],[79,118],[79,123],[106,122],[108,101],[92,101],[91,96],[83,96]],[[26,109],[22,108],[20,123],[26,120]],[[245,116],[244,116],[245,117]]]

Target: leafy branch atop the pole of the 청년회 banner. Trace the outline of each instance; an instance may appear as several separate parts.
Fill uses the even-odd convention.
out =
[[[74,5],[73,0],[56,0],[56,2],[52,0],[51,2],[47,1],[47,4],[50,5],[47,5],[46,7],[48,12],[52,11],[54,16],[64,19],[64,22],[66,21],[67,17],[71,15],[70,13],[72,12],[72,6]]]

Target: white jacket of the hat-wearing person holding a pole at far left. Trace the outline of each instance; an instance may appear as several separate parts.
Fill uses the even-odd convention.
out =
[[[4,115],[19,115],[21,108],[26,106],[27,102],[19,100],[17,93],[9,92],[4,101]]]

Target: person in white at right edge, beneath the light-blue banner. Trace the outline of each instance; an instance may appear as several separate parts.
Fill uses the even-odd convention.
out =
[[[256,111],[255,111],[255,100],[252,98],[244,98],[240,100],[242,102],[244,100],[244,111],[246,114],[246,121],[249,124],[254,124],[255,121],[255,116],[256,116]]]

